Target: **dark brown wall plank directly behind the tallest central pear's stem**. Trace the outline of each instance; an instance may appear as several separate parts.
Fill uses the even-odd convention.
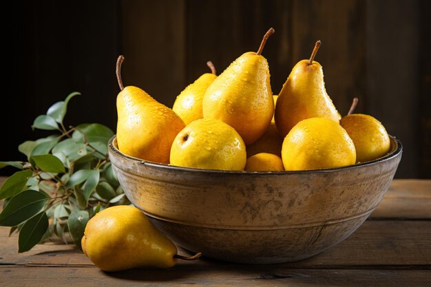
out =
[[[273,93],[280,92],[290,64],[291,1],[187,1],[187,83],[213,61],[218,74],[244,52],[257,51],[269,28],[275,34],[262,56],[269,63]]]

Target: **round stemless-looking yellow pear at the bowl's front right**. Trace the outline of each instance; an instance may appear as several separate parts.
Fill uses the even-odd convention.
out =
[[[284,138],[282,160],[286,171],[345,167],[356,162],[355,145],[334,120],[307,118]]]

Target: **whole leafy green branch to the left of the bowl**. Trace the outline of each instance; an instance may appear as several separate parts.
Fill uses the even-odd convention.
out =
[[[10,226],[10,234],[19,232],[20,253],[55,238],[81,248],[85,225],[94,214],[129,204],[107,153],[113,131],[98,123],[63,124],[67,104],[77,95],[69,94],[34,120],[32,129],[55,134],[19,145],[26,161],[0,162],[0,168],[19,169],[0,187],[0,226]]]

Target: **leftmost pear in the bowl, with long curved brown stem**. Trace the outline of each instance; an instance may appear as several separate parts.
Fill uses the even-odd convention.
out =
[[[123,87],[120,77],[123,60],[120,55],[116,68],[121,89],[116,98],[118,149],[134,158],[169,163],[172,142],[185,123],[172,109],[158,103],[143,89]]]

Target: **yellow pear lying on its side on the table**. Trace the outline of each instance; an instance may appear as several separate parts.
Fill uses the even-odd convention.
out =
[[[96,213],[85,226],[83,252],[101,270],[170,268],[176,259],[196,259],[177,254],[169,238],[160,233],[147,216],[134,206],[110,206]]]

